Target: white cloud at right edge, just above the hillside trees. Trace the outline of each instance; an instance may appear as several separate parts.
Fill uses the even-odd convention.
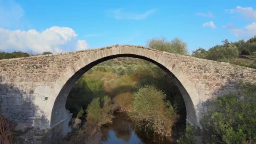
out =
[[[223,27],[232,32],[236,37],[253,37],[256,35],[256,22],[247,25],[243,29],[237,28],[235,24],[227,24]]]

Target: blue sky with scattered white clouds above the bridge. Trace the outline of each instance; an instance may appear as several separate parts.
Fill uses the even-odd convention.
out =
[[[0,51],[75,51],[179,37],[191,53],[256,35],[255,0],[0,0]]]

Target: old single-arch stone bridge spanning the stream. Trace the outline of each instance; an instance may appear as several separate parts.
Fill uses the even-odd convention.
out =
[[[256,83],[256,69],[135,45],[0,60],[1,112],[18,123],[48,129],[46,139],[69,131],[69,92],[88,69],[116,57],[135,57],[157,64],[175,78],[187,110],[187,122],[199,125],[211,99],[237,91],[240,81]]]

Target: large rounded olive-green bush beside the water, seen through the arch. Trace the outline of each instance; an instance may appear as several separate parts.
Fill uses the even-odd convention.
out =
[[[154,86],[145,86],[133,94],[129,115],[137,125],[162,136],[172,134],[172,127],[179,118],[165,94]]]

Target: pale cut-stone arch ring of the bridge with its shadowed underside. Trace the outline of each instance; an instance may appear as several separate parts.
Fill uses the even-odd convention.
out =
[[[61,74],[58,80],[56,80],[53,91],[51,91],[50,99],[54,101],[53,108],[51,110],[50,127],[52,129],[59,127],[56,131],[58,133],[67,134],[64,129],[67,128],[68,122],[71,118],[69,112],[65,108],[67,96],[71,91],[75,82],[93,66],[117,57],[134,57],[150,61],[170,75],[175,77],[176,85],[179,87],[183,96],[186,110],[187,110],[187,122],[193,125],[199,125],[199,109],[197,105],[200,103],[198,93],[195,89],[194,83],[192,83],[187,76],[179,69],[179,64],[174,64],[173,61],[169,61],[167,57],[163,55],[165,52],[156,51],[149,48],[143,48],[141,46],[114,46],[109,48],[101,48],[98,51],[91,51],[88,57],[83,57],[79,61],[70,67],[67,72]],[[61,128],[61,130],[59,130]]]

